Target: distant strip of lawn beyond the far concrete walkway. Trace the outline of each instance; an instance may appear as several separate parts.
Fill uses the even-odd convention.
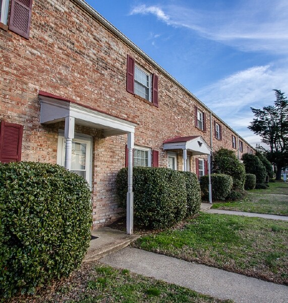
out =
[[[288,195],[249,193],[244,200],[213,203],[211,208],[288,216]]]

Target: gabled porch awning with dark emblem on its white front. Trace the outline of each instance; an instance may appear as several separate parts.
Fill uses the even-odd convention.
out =
[[[193,155],[210,155],[211,148],[202,136],[176,137],[163,142],[164,150],[183,149],[191,151]]]

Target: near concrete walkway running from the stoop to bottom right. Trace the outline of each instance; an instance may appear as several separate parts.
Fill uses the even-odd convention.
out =
[[[288,302],[288,286],[139,249],[127,247],[99,262],[237,303]]]

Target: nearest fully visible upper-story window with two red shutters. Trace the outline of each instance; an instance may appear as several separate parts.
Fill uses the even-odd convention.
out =
[[[159,107],[158,76],[135,64],[130,55],[127,56],[127,91]]]

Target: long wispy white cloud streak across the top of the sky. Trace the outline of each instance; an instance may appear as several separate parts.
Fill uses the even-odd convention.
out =
[[[167,25],[189,28],[207,39],[244,51],[288,52],[288,2],[243,1],[233,9],[200,11],[175,5],[137,6],[131,15],[154,15]]]

